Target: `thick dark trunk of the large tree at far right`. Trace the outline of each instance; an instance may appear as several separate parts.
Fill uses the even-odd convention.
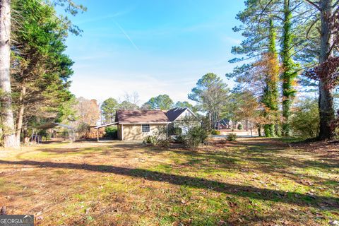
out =
[[[333,37],[331,37],[330,17],[333,15],[332,9],[333,0],[321,0],[321,49],[319,63],[323,63],[331,56],[331,45]],[[319,81],[319,116],[320,116],[320,131],[319,139],[331,139],[334,136],[334,129],[331,126],[335,119],[333,105],[333,89],[326,88],[324,81]]]

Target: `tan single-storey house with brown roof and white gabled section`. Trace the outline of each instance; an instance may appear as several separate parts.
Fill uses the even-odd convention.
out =
[[[168,133],[171,128],[181,127],[186,117],[196,118],[196,114],[189,108],[174,108],[169,111],[117,110],[114,123],[96,128],[117,125],[119,140],[141,141],[146,136],[153,135],[162,129]],[[183,133],[186,132],[184,128],[182,128]]]

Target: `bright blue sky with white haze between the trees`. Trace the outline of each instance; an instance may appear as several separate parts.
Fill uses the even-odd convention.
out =
[[[142,104],[166,93],[184,101],[201,76],[225,79],[235,66],[227,61],[242,40],[232,31],[242,0],[77,2],[88,7],[71,18],[82,37],[70,35],[66,42],[77,97],[102,102],[137,92]]]

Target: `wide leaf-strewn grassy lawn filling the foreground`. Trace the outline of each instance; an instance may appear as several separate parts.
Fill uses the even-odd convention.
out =
[[[37,225],[328,225],[339,220],[339,147],[244,138],[2,150],[1,206]]]

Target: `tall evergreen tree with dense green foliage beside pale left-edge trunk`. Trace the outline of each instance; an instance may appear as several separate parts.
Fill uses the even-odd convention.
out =
[[[20,142],[23,126],[32,121],[61,121],[73,111],[69,101],[69,77],[73,61],[64,54],[68,20],[55,16],[48,4],[39,1],[12,1],[13,37],[12,90],[16,95],[16,139]]]

